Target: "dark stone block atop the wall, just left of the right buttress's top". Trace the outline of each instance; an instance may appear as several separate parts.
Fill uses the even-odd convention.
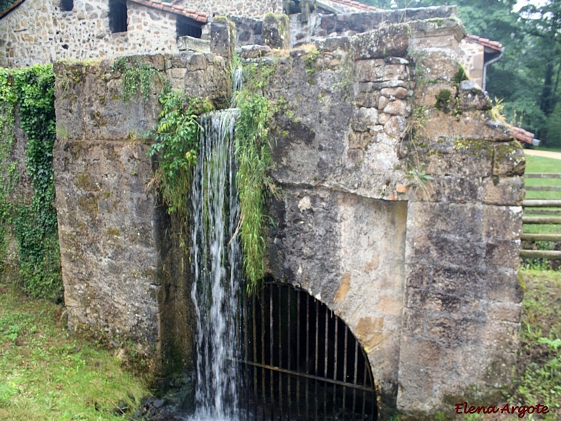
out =
[[[409,25],[403,23],[353,36],[353,58],[365,60],[405,55],[409,46]]]

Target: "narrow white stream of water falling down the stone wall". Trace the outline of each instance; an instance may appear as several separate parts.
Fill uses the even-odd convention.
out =
[[[197,316],[195,420],[238,420],[236,312],[241,251],[234,154],[236,109],[201,117],[192,189],[191,297]]]

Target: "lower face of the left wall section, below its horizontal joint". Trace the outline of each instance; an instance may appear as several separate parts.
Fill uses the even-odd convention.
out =
[[[55,186],[65,303],[73,330],[158,341],[158,251],[147,146],[59,140]]]

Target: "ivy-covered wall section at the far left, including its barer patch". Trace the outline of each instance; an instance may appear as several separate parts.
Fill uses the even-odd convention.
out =
[[[52,65],[0,69],[0,269],[29,295],[62,301],[54,88]]]

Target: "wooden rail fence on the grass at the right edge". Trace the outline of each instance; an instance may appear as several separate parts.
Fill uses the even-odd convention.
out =
[[[561,173],[526,173],[525,178],[561,179]],[[526,185],[527,192],[560,192],[561,185]],[[561,198],[560,199],[526,199],[522,202],[524,225],[559,225],[555,231],[561,232]],[[527,216],[532,215],[532,216]],[[534,216],[538,215],[538,216]],[[529,234],[520,236],[522,241],[554,241],[561,243],[561,234]],[[548,260],[561,260],[561,250],[520,250],[521,258],[544,258]]]

